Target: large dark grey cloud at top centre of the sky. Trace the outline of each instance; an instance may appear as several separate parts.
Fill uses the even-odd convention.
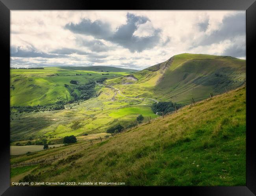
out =
[[[108,23],[101,22],[100,20],[91,22],[89,19],[82,19],[78,24],[66,24],[65,28],[73,33],[91,35],[97,39],[113,42],[134,53],[135,51],[142,52],[145,49],[151,49],[160,41],[161,30],[154,29],[153,27],[151,27],[151,32],[148,36],[137,36],[134,34],[140,25],[147,22],[150,22],[150,20],[145,16],[135,16],[134,14],[127,13],[126,24],[120,25],[116,31],[112,31]]]

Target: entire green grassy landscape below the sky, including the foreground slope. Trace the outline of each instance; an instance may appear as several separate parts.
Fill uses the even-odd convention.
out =
[[[141,71],[106,66],[11,69],[11,145],[29,149],[28,143],[42,138],[52,145],[63,144],[65,136],[77,138],[72,145],[13,154],[12,178],[40,173],[37,177],[48,181],[244,185],[245,70],[245,60],[188,53]],[[162,102],[182,107],[163,118],[151,108]],[[140,114],[141,122],[136,120]],[[124,129],[107,131],[115,125]],[[64,160],[71,152],[79,155],[72,163],[59,163],[55,156],[64,151],[70,151],[62,153]],[[50,156],[54,158],[47,164],[31,164]],[[17,167],[22,162],[30,164],[24,171]],[[213,162],[219,163],[214,170]]]

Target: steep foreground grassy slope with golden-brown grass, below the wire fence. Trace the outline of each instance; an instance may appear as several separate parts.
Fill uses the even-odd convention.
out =
[[[63,162],[12,169],[19,181],[125,182],[125,185],[241,185],[246,182],[246,91],[236,89],[116,134]],[[117,116],[119,117],[119,116]],[[60,151],[71,147],[59,147]],[[58,150],[55,149],[56,151]],[[37,155],[52,156],[49,149]],[[41,154],[41,155],[40,155]],[[27,179],[27,178],[25,178]],[[26,181],[24,179],[24,181]]]

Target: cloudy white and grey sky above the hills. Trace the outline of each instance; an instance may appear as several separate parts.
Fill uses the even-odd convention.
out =
[[[141,70],[181,53],[245,59],[245,11],[11,11],[11,67]]]

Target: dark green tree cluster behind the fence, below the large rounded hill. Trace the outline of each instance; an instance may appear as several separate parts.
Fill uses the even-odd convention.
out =
[[[176,109],[179,109],[180,107],[182,107],[182,105],[178,103],[158,102],[158,103],[153,103],[153,105],[151,106],[151,109],[154,113],[163,112],[163,114],[167,114],[169,112],[175,111],[175,106],[176,106]]]

